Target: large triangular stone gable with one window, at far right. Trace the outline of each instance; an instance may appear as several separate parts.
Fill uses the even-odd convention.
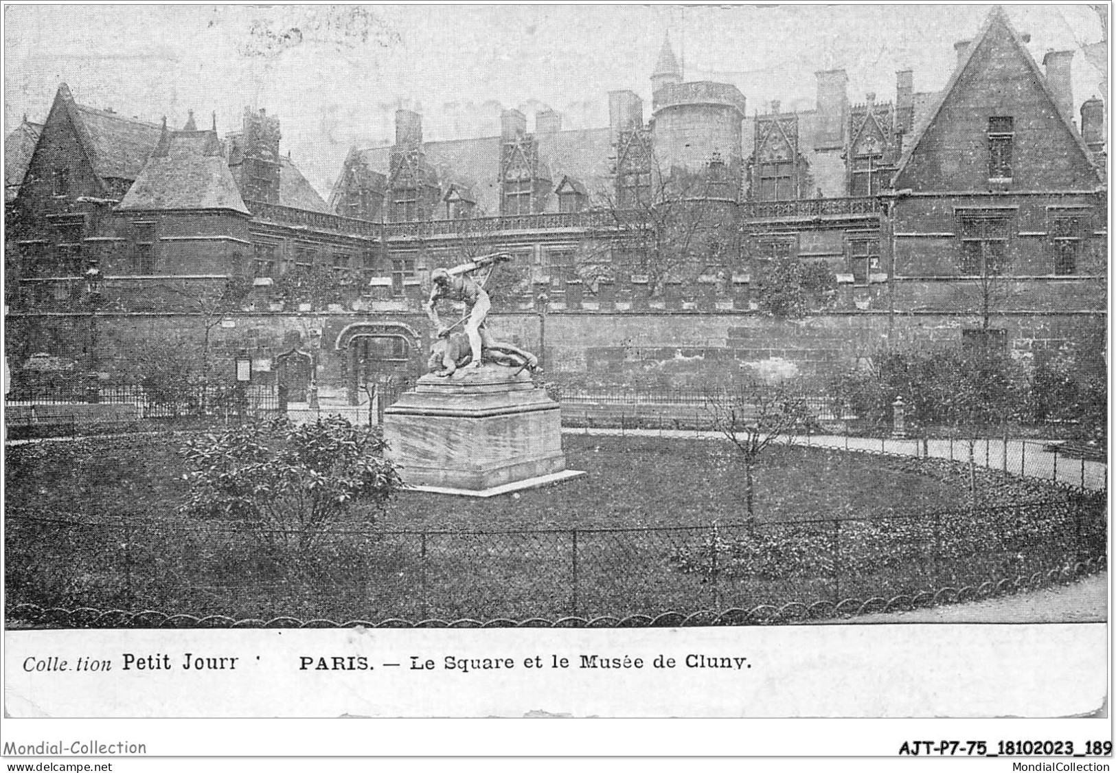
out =
[[[989,190],[989,135],[1002,118],[1011,118],[1012,126],[1011,190],[1093,190],[1100,183],[1070,116],[1058,107],[1046,77],[997,7],[916,130],[894,187]]]

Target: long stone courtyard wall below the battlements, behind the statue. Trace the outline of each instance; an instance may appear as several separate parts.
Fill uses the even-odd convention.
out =
[[[1103,313],[1008,313],[995,325],[1020,359],[1064,349],[1077,352],[1083,369],[1104,372],[1106,316]],[[354,335],[385,330],[406,340],[406,362],[383,372],[425,371],[429,324],[416,311],[353,314],[243,313],[211,331],[211,366],[230,375],[233,357],[247,353],[261,363],[297,349],[311,352],[318,383],[337,394],[350,388]],[[546,379],[587,385],[654,388],[710,386],[744,374],[797,378],[819,383],[836,369],[863,363],[885,345],[960,346],[962,332],[979,327],[972,315],[886,312],[829,313],[779,321],[754,312],[551,311],[493,314],[494,337],[541,353]],[[77,361],[118,378],[152,341],[200,342],[203,321],[187,314],[55,314],[8,317],[7,356],[18,371],[38,352]],[[340,349],[338,349],[340,345]],[[263,371],[262,382],[273,379]]]

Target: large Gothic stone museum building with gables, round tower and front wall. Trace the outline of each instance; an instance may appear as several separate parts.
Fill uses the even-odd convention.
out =
[[[492,324],[564,379],[819,370],[883,341],[991,336],[1020,355],[1091,341],[1106,324],[1105,106],[1087,101],[1076,123],[1071,55],[1040,67],[1002,9],[954,48],[940,92],[904,70],[893,96],[854,102],[831,69],[814,109],[748,117],[734,86],[686,82],[666,40],[650,115],[617,90],[605,127],[545,112],[529,132],[506,111],[499,136],[427,142],[422,116],[398,111],[394,143],[354,147],[328,203],[263,111],[222,139],[193,117],[171,131],[84,107],[64,86],[8,235],[11,318],[57,335],[29,332],[9,356],[60,345],[46,315],[84,318],[90,266],[102,331],[109,314],[189,327],[189,305],[156,288],[240,276],[252,289],[218,334],[227,351],[317,347],[317,378],[353,394],[368,369],[420,369],[430,270],[494,250],[514,268]],[[836,281],[802,319],[758,304],[759,277],[788,260]],[[314,273],[336,279],[325,297],[280,292]]]

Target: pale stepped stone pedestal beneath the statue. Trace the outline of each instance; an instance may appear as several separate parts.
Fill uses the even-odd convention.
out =
[[[492,496],[580,475],[566,469],[558,403],[501,365],[422,376],[384,411],[384,439],[421,490]]]

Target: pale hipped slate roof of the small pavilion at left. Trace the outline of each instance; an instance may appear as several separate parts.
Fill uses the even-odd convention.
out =
[[[164,132],[118,209],[224,209],[249,214],[212,131]]]

